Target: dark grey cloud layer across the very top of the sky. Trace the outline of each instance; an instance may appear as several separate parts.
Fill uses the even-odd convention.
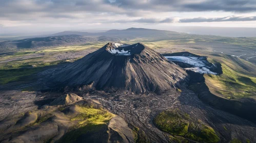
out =
[[[69,13],[112,13],[140,16],[140,11],[198,12],[229,11],[256,12],[255,0],[0,0],[0,17],[15,18],[22,14],[65,17]],[[45,14],[45,15],[44,15]],[[141,15],[142,16],[142,15]]]

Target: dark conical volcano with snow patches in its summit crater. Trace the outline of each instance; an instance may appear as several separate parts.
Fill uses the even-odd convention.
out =
[[[180,85],[186,76],[183,69],[141,43],[108,43],[56,71],[51,78],[54,84],[50,85],[54,88],[90,84],[96,89],[161,92]]]

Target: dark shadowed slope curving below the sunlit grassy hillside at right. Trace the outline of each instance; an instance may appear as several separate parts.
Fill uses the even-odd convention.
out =
[[[189,89],[198,94],[203,102],[256,123],[256,101],[251,98],[228,100],[212,94],[203,75],[188,71],[191,77]]]

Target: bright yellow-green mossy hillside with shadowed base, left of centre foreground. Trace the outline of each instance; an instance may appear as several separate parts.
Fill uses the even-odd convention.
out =
[[[74,110],[78,114],[70,118],[70,121],[78,125],[72,127],[59,142],[101,142],[108,138],[107,123],[113,117],[108,111],[95,109],[90,106],[75,105]]]

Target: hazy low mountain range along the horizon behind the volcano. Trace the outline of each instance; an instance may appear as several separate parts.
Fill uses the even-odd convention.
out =
[[[165,30],[129,28],[125,30],[109,30],[106,32],[90,33],[81,31],[64,31],[49,35],[48,37],[26,38],[12,41],[0,42],[0,49],[26,49],[26,48],[44,48],[57,46],[82,45],[88,42],[120,42],[130,40],[136,42],[154,42],[160,40],[176,40],[181,43],[189,42],[222,42],[233,44],[234,42],[250,43],[246,46],[254,48],[254,38],[232,38],[212,35],[194,35],[187,33],[178,33]]]

